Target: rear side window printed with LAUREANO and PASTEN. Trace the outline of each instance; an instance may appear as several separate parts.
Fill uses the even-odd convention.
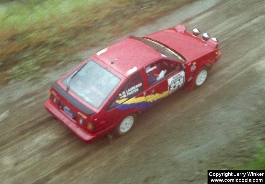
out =
[[[118,105],[122,104],[128,99],[131,99],[134,96],[137,96],[142,92],[142,74],[141,71],[138,71],[137,73],[133,74],[119,90],[118,94],[116,94],[116,96],[108,105],[107,110],[117,107]]]

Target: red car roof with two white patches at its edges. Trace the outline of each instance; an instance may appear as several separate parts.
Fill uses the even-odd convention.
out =
[[[99,51],[94,56],[124,76],[141,69],[154,59],[161,58],[156,50],[131,37]]]

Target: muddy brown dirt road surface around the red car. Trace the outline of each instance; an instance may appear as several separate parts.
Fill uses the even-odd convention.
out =
[[[147,110],[124,137],[86,144],[46,112],[51,84],[76,63],[34,86],[1,86],[0,183],[197,184],[206,183],[208,169],[255,158],[265,142],[265,2],[208,2],[132,33],[181,23],[217,37],[223,55],[203,86],[180,90]]]

